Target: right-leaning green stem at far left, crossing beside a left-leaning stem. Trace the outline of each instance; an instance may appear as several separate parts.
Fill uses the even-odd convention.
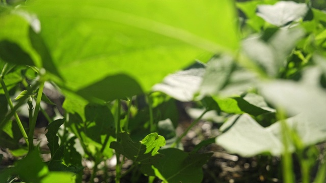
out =
[[[41,81],[40,81],[41,83],[40,83],[39,91],[38,91],[37,98],[36,98],[34,115],[33,115],[32,121],[30,123],[30,132],[29,132],[29,136],[28,136],[29,142],[31,144],[30,149],[29,149],[30,151],[34,149],[34,145],[33,145],[34,129],[35,129],[35,125],[36,125],[37,115],[40,110],[43,88],[44,88],[44,83],[45,83],[45,80],[42,80],[42,78],[40,78],[40,79],[41,79]]]

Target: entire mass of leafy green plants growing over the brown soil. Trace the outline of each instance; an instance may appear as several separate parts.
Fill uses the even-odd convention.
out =
[[[94,182],[114,158],[115,182],[132,171],[201,182],[214,152],[200,149],[214,143],[281,157],[282,182],[325,182],[316,145],[326,140],[326,13],[310,1],[0,2],[0,147],[16,157],[0,182],[82,182],[84,160]],[[49,86],[63,104],[45,95]],[[181,133],[176,101],[199,111]],[[43,104],[64,112],[49,116]],[[34,139],[39,113],[47,162]],[[183,150],[208,113],[220,135]]]

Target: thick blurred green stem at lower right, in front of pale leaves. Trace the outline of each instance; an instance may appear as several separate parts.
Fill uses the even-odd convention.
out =
[[[293,183],[294,182],[294,173],[293,173],[293,160],[292,155],[289,151],[289,137],[291,134],[288,126],[285,122],[285,114],[283,110],[279,110],[278,118],[281,120],[281,131],[282,131],[282,141],[284,146],[284,152],[282,155],[282,168],[283,168],[283,182]]]

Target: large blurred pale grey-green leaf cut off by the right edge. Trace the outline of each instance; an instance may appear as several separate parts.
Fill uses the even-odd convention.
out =
[[[309,73],[309,77],[311,75],[312,73]],[[316,82],[316,79],[307,79],[307,83],[277,80],[261,86],[261,93],[271,104],[285,110],[289,115],[300,114],[289,120],[288,126],[297,133],[305,146],[326,139],[326,93],[322,88],[312,85],[314,81]],[[270,128],[280,127],[275,124]]]

